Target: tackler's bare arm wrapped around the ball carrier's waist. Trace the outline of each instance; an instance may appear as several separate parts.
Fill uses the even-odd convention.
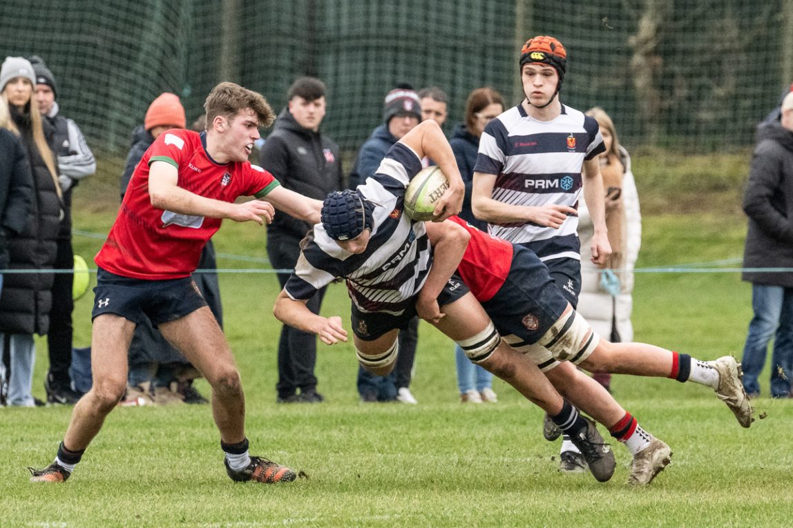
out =
[[[440,223],[427,222],[425,225],[433,248],[433,259],[427,281],[416,300],[416,312],[422,319],[438,323],[443,317],[438,306],[438,296],[460,265],[471,235],[461,225],[449,220]]]

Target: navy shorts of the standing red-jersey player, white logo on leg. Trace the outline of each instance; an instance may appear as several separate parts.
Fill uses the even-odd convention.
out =
[[[193,277],[145,281],[97,270],[91,320],[112,313],[142,323],[147,317],[155,327],[206,306]]]

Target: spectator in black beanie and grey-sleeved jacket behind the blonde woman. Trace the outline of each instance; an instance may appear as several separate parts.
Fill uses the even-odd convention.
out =
[[[52,128],[53,153],[58,162],[58,182],[63,195],[63,219],[58,231],[56,270],[73,270],[75,253],[71,247],[71,192],[79,180],[94,174],[97,163],[75,121],[59,114],[56,102],[58,88],[52,71],[36,55],[30,57],[33,73],[36,74],[36,103],[42,120]],[[44,390],[50,404],[75,404],[79,392],[72,388],[69,377],[72,351],[71,312],[75,308],[72,300],[74,275],[55,275],[52,285],[52,310],[50,329],[47,334],[49,369],[44,378]]]

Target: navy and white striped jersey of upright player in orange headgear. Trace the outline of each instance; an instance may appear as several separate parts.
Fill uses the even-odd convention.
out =
[[[485,127],[474,171],[495,174],[492,198],[511,205],[569,205],[577,208],[584,160],[605,151],[592,117],[561,105],[552,121],[537,121],[517,105]],[[580,260],[578,217],[558,229],[533,222],[489,224],[492,235],[529,247],[542,260]]]

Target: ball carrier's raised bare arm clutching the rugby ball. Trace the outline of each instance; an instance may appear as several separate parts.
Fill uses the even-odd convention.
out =
[[[458,214],[462,209],[462,199],[465,197],[465,183],[454,158],[449,141],[443,135],[440,125],[431,119],[419,123],[400,140],[411,147],[419,158],[427,156],[438,164],[443,174],[449,180],[449,189],[435,206],[434,222],[442,222],[452,215]]]

